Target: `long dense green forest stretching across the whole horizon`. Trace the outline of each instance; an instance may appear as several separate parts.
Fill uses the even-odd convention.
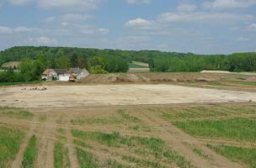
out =
[[[232,55],[195,55],[192,53],[161,52],[157,50],[97,50],[71,47],[13,47],[0,52],[0,66],[19,60],[23,81],[40,78],[45,68],[87,68],[91,73],[126,72],[129,62],[149,63],[151,71],[256,71],[256,53]],[[14,74],[2,72],[1,79]],[[1,77],[2,76],[2,77]],[[13,77],[13,78],[19,78]],[[6,80],[8,81],[8,80]],[[14,80],[15,81],[15,80]],[[20,81],[20,80],[19,80]]]

